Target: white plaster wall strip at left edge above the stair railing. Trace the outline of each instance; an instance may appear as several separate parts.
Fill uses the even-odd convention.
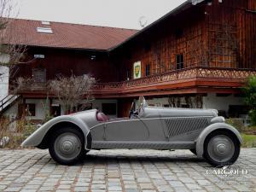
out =
[[[9,89],[9,68],[0,67],[0,100],[8,96]]]

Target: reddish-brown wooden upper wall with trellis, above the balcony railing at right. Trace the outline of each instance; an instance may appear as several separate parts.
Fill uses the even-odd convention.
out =
[[[142,61],[143,76],[148,64],[150,74],[177,70],[178,55],[183,55],[184,68],[255,69],[254,2],[214,0],[160,20],[113,51],[115,62],[122,65],[119,80],[127,78],[135,61]]]

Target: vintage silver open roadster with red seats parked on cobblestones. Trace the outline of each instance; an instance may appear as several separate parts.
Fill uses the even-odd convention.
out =
[[[90,149],[190,149],[212,166],[233,164],[241,136],[215,109],[148,107],[144,97],[129,118],[108,119],[96,109],[49,120],[21,144],[49,148],[51,157],[71,165]]]

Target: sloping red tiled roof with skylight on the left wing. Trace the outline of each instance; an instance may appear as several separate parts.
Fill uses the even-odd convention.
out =
[[[51,22],[43,25],[41,20],[11,21],[11,32],[14,37],[11,44],[26,44],[69,49],[110,49],[121,44],[134,35],[137,30],[106,26],[89,26],[71,23]],[[50,27],[53,33],[37,32],[37,27]]]

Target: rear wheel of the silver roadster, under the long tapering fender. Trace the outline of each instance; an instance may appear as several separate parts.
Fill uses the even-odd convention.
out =
[[[61,165],[73,165],[84,154],[84,137],[73,127],[56,130],[49,141],[49,154]]]

